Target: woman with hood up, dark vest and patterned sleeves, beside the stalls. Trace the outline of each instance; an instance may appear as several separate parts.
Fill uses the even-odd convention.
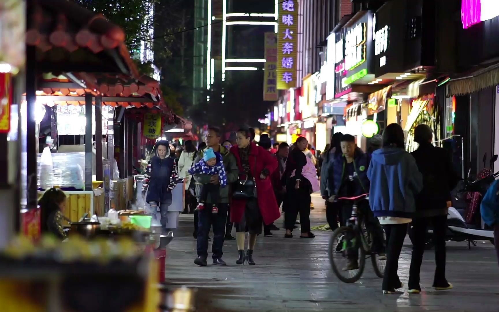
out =
[[[166,228],[168,206],[172,204],[172,190],[177,186],[178,165],[170,156],[170,144],[166,140],[156,143],[153,157],[149,160],[144,175],[142,193],[151,207],[153,217],[161,211],[161,225]]]

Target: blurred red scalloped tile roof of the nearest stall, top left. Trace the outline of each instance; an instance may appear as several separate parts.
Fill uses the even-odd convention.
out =
[[[26,44],[36,46],[38,72],[139,72],[125,33],[101,14],[67,0],[28,1]]]

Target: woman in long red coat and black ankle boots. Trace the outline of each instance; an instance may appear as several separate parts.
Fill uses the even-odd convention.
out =
[[[250,131],[240,129],[236,133],[236,146],[231,152],[236,156],[240,179],[253,179],[256,184],[256,198],[232,199],[231,221],[236,226],[236,241],[239,259],[236,264],[245,260],[254,265],[253,248],[256,235],[261,234],[262,221],[270,224],[280,217],[275,201],[270,175],[277,169],[277,160],[268,151],[251,142]],[[248,234],[248,253],[245,256],[245,232]]]

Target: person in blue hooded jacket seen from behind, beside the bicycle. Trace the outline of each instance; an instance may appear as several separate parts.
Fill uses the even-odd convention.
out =
[[[386,234],[383,294],[402,288],[397,274],[407,224],[416,211],[415,195],[423,190],[423,176],[414,157],[406,152],[404,131],[396,124],[383,131],[383,147],[373,152],[367,177],[371,181],[369,204]]]

